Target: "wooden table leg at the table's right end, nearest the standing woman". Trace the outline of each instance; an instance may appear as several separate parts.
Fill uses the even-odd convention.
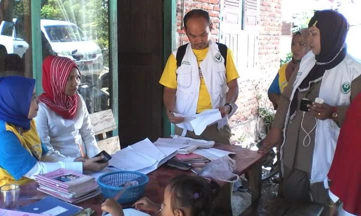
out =
[[[252,204],[255,203],[260,197],[262,193],[262,165],[261,162],[258,162],[250,167],[250,169],[246,172],[246,178],[249,182],[249,187],[251,190],[251,201]]]

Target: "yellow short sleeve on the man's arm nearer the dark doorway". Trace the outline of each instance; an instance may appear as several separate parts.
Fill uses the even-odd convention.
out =
[[[159,83],[168,88],[177,88],[176,81],[176,59],[171,53],[168,57],[168,60],[165,64],[163,73],[160,77]]]

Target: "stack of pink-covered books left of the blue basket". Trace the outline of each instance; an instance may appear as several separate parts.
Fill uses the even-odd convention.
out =
[[[38,190],[70,203],[79,203],[101,194],[95,178],[67,169],[36,176]]]

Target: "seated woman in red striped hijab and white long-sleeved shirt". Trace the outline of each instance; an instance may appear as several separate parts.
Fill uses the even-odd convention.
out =
[[[69,157],[93,157],[100,150],[83,97],[77,93],[80,72],[66,57],[43,62],[43,88],[35,119],[42,142]]]

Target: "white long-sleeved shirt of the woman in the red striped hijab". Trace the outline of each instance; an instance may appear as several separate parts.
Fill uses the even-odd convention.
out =
[[[81,156],[78,143],[88,157],[100,150],[91,127],[89,112],[83,97],[78,94],[78,106],[73,119],[65,119],[51,110],[45,103],[39,103],[36,126],[42,142],[49,148],[69,157]]]

